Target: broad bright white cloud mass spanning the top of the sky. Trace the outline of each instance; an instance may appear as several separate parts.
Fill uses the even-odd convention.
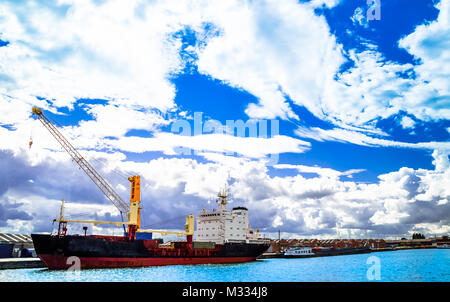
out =
[[[201,73],[258,98],[246,109],[250,117],[298,119],[285,96],[342,128],[376,131],[375,119],[399,110],[424,120],[448,117],[449,58],[444,50],[449,5],[439,4],[437,21],[399,41],[421,65],[388,62],[376,47],[350,50],[354,67],[335,77],[344,51],[314,9],[338,3],[4,2],[2,39],[10,44],[0,51],[1,122],[24,121],[32,104],[55,110],[71,107],[78,98],[107,99],[136,114],[139,108],[173,109],[175,88],[169,77],[186,63],[179,54],[181,41],[173,34],[186,27],[201,42],[189,50],[198,56],[193,63]],[[205,24],[218,34],[208,33]],[[437,36],[442,39],[433,38]]]

